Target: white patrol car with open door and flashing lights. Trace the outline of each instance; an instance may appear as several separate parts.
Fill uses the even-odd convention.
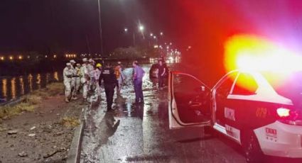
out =
[[[168,84],[170,129],[212,126],[242,145],[247,162],[263,154],[302,158],[302,72],[279,78],[235,70],[212,89],[171,72]]]

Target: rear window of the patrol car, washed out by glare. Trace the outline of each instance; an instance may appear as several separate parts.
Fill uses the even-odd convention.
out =
[[[302,72],[262,74],[279,95],[291,99],[294,105],[302,106]]]

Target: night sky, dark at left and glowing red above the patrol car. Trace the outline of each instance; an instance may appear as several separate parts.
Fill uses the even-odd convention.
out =
[[[165,40],[200,60],[220,60],[237,33],[261,35],[301,50],[302,1],[101,0],[104,51],[131,45],[124,27],[163,31]],[[97,0],[1,0],[0,51],[100,51]],[[87,38],[87,39],[86,39]]]

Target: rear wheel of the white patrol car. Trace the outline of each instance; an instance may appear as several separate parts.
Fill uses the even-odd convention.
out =
[[[249,163],[262,162],[264,154],[261,151],[256,135],[252,130],[244,134],[243,150],[244,155]]]

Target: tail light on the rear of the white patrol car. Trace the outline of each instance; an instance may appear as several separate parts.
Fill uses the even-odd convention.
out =
[[[289,108],[278,108],[276,111],[279,116],[279,122],[288,125],[302,125],[301,111],[293,111]]]

